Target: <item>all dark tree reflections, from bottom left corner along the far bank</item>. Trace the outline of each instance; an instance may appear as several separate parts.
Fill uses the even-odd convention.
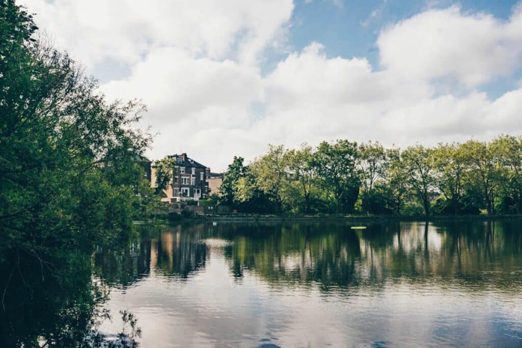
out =
[[[2,346],[136,346],[136,318],[125,329],[100,331],[109,289],[154,277],[186,282],[222,258],[236,282],[246,274],[275,290],[317,289],[325,296],[379,293],[406,283],[422,291],[517,295],[522,289],[522,225],[502,222],[181,224],[144,229],[129,244],[95,253],[61,250],[48,263],[20,254],[0,265],[7,289]],[[18,256],[6,259],[18,260]],[[225,272],[227,270],[225,269]],[[8,286],[6,287],[6,284]],[[124,308],[121,308],[124,309]],[[114,317],[117,315],[113,314]]]

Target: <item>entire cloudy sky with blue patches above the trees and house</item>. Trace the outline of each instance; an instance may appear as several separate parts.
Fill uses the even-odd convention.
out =
[[[23,0],[109,99],[148,105],[149,157],[224,170],[268,143],[522,134],[522,4]]]

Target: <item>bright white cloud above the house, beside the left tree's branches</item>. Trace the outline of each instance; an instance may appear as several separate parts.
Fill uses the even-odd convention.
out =
[[[176,48],[151,51],[133,67],[128,79],[108,82],[103,90],[109,98],[143,99],[160,123],[177,122],[208,110],[245,109],[261,92],[255,69],[228,60],[193,58]],[[213,123],[223,121],[216,117]]]

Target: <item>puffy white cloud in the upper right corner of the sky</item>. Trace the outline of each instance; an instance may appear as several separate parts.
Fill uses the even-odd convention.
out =
[[[457,6],[426,10],[383,30],[377,46],[382,67],[398,75],[475,87],[521,66],[522,11],[503,22]]]

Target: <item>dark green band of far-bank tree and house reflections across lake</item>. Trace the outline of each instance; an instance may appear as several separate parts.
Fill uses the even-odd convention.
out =
[[[142,235],[131,248],[100,250],[97,275],[129,286],[152,267],[186,280],[205,268],[211,248],[221,252],[230,273],[251,272],[272,286],[382,289],[386,282],[516,289],[520,285],[521,223],[390,222],[351,230],[347,223],[183,224]],[[449,282],[449,283],[448,283]]]

